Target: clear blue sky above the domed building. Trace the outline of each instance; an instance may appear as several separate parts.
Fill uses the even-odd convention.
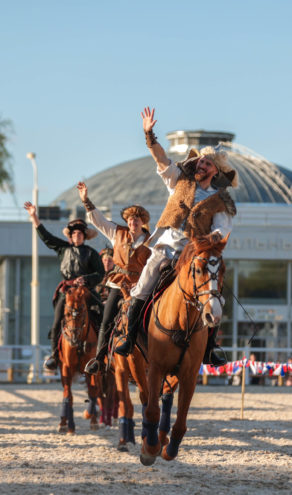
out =
[[[0,11],[19,205],[31,199],[28,151],[40,204],[146,155],[144,105],[163,146],[175,129],[231,131],[292,169],[290,0],[0,0]]]

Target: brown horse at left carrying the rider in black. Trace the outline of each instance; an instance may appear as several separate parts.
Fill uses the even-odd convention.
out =
[[[59,432],[74,433],[72,379],[84,373],[89,359],[96,353],[97,335],[89,319],[87,301],[91,297],[86,287],[71,287],[66,292],[59,358],[63,385],[63,406]],[[84,418],[90,419],[90,428],[98,428],[97,398],[101,395],[101,376],[85,373],[88,389],[88,407]]]

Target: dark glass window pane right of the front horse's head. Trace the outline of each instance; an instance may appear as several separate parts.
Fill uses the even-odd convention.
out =
[[[287,263],[239,261],[238,295],[246,304],[287,304]]]

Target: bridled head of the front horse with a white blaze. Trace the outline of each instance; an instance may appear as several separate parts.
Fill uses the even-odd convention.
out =
[[[225,299],[222,296],[225,264],[222,251],[228,236],[216,244],[209,239],[193,239],[192,275],[194,296],[199,301],[204,325],[214,327],[222,318]]]

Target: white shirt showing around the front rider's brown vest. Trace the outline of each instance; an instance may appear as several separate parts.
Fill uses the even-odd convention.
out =
[[[181,170],[173,162],[170,162],[169,166],[165,170],[159,171],[157,169],[157,173],[162,178],[168,189],[169,195],[171,196],[175,191],[175,186]],[[194,198],[194,205],[203,199],[206,199],[208,196],[215,194],[216,192],[217,190],[212,186],[209,186],[207,189],[202,189],[202,187],[198,184]],[[225,237],[231,232],[231,229],[232,217],[226,212],[215,213],[213,223],[211,225],[211,232],[219,232],[222,237]],[[181,252],[183,250],[188,241],[189,239],[180,229],[174,229],[173,227],[158,227],[155,229],[148,242],[150,248],[163,250],[168,258],[172,258],[175,252]]]

